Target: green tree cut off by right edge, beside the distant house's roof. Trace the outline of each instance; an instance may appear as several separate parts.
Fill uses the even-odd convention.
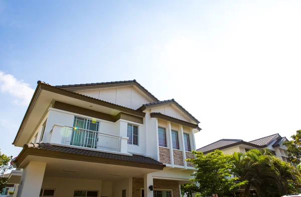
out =
[[[297,130],[296,134],[291,135],[292,140],[285,141],[289,160],[295,164],[301,163],[301,130]]]

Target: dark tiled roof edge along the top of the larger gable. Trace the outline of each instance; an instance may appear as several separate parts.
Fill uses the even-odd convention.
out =
[[[100,82],[100,83],[84,83],[84,84],[70,84],[70,85],[56,85],[55,87],[67,90],[76,90],[76,89],[87,89],[87,88],[104,88],[104,87],[115,87],[115,86],[125,86],[125,85],[136,85],[142,92],[148,95],[155,101],[159,101],[159,99],[150,93],[145,87],[143,87],[140,83],[134,80],[122,80],[122,81],[111,81],[111,82]]]

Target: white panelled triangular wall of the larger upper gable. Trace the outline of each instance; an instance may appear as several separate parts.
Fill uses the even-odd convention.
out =
[[[86,90],[74,90],[74,92],[87,95],[114,104],[137,109],[142,104],[154,102],[154,100],[143,96],[134,86],[121,86],[110,88],[97,88]]]

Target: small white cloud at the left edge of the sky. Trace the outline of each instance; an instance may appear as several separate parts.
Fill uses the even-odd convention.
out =
[[[13,102],[21,105],[27,105],[34,93],[34,89],[30,87],[30,84],[3,71],[0,71],[0,91],[11,94],[15,98]]]

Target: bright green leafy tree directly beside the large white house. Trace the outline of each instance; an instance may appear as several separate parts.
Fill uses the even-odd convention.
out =
[[[225,196],[246,183],[239,181],[239,177],[231,177],[232,164],[229,161],[232,155],[225,155],[220,150],[207,155],[197,151],[193,153],[195,158],[187,160],[195,164],[197,171],[192,174],[192,183],[181,185],[182,195],[192,196],[192,193],[198,193],[201,196],[211,196],[212,193],[218,193],[219,196]]]

